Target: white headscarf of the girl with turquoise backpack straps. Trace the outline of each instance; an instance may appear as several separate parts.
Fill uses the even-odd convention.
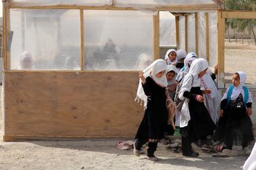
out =
[[[242,72],[242,71],[238,71],[237,73],[240,77],[240,84],[238,85],[238,87],[234,87],[234,89],[232,91],[232,95],[231,95],[231,100],[236,100],[236,98],[238,98],[240,93],[244,97],[244,90],[242,89],[242,86],[244,86],[244,84],[245,84],[246,74],[245,74],[245,72]],[[227,88],[227,90],[225,91],[225,94],[223,95],[223,98],[221,100],[224,100],[227,98],[227,93],[228,93],[229,89],[230,89],[230,87]],[[247,100],[247,103],[249,103],[249,102],[253,102],[250,91],[249,91],[249,98]]]

